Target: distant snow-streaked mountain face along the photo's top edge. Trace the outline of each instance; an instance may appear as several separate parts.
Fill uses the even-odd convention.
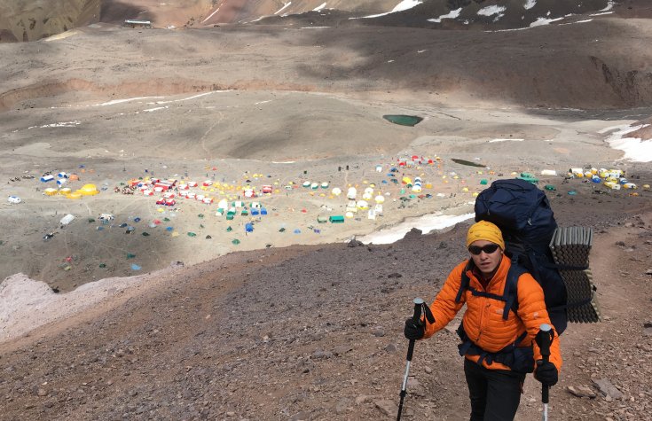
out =
[[[35,41],[94,23],[122,25],[126,19],[166,28],[274,24],[525,29],[583,23],[618,13],[652,15],[652,6],[639,7],[635,3],[640,1],[180,0],[166,3],[165,0],[15,0],[0,4],[0,42]]]

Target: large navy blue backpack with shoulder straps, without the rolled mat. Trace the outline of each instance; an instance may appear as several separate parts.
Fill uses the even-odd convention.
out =
[[[557,222],[546,193],[524,180],[497,180],[475,199],[475,222],[479,221],[498,225],[505,239],[505,254],[512,260],[503,296],[493,297],[505,301],[503,318],[507,320],[510,309],[518,309],[518,277],[529,272],[543,289],[554,330],[562,334],[568,324],[567,292],[559,269],[569,268],[556,265],[550,252],[549,244]],[[468,284],[465,273],[458,302],[462,292],[469,289]]]

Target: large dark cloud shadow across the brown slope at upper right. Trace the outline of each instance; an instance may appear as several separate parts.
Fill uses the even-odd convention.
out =
[[[528,106],[647,106],[652,105],[652,68],[646,66],[651,35],[647,22],[617,19],[507,32],[315,30],[314,43],[340,51],[339,59],[299,68],[327,81],[387,80],[397,89],[461,91]],[[355,66],[345,61],[351,51]]]

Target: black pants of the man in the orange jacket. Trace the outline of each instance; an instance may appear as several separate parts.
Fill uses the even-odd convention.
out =
[[[488,370],[464,359],[471,421],[512,421],[521,402],[524,374]]]

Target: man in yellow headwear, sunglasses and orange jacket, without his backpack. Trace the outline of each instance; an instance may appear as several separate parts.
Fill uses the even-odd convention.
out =
[[[458,334],[471,400],[470,419],[513,420],[526,373],[534,370],[534,377],[544,386],[557,383],[562,367],[559,338],[554,333],[550,361],[544,362],[535,337],[541,324],[551,322],[544,292],[527,272],[518,277],[517,305],[509,306],[508,313],[505,312],[503,292],[512,263],[503,258],[505,242],[498,226],[486,221],[472,225],[467,233],[467,250],[470,259],[452,269],[429,307],[434,323],[428,323],[428,317],[417,322],[407,319],[405,337],[431,337],[451,322],[466,303]],[[462,286],[463,277],[468,279],[466,287]]]

